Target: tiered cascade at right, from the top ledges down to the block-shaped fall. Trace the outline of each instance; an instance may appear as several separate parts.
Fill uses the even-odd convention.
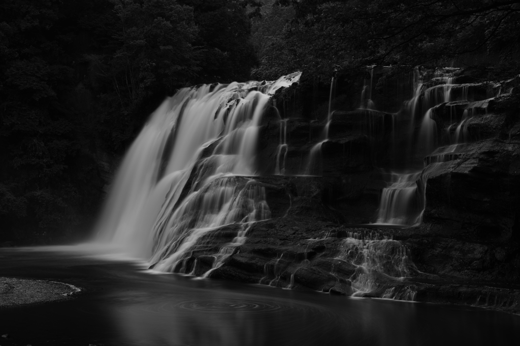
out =
[[[428,76],[428,73],[421,72],[420,68],[414,69],[413,97],[405,102],[398,113],[398,116],[410,119],[406,131],[406,153],[411,162],[407,162],[405,171],[391,170],[389,175],[386,174],[390,179],[386,179],[388,186],[381,194],[376,223],[406,226],[421,223],[427,177],[434,173],[441,163],[458,158],[464,143],[478,137],[478,133],[470,131],[476,115],[487,113],[489,102],[500,95],[500,89],[496,90],[497,85],[488,85],[485,94],[480,92],[480,95],[475,96],[472,85],[455,84],[456,78],[451,75],[454,71],[456,69],[445,68],[444,71],[437,71],[433,76]],[[426,78],[430,80],[427,81]],[[425,85],[432,84],[434,85],[424,89]],[[473,102],[470,100],[483,96],[488,99]],[[461,107],[464,111],[460,117],[457,109]],[[449,115],[449,124],[445,131],[440,133],[436,119],[442,117],[442,112]],[[422,114],[422,118],[419,114]],[[424,158],[420,170],[419,158]]]

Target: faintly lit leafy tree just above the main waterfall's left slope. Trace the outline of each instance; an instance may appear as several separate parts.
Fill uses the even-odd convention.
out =
[[[191,7],[170,0],[111,0],[109,45],[86,54],[99,95],[100,132],[112,150],[135,136],[160,99],[191,84],[199,63]],[[159,100],[158,100],[159,99]]]

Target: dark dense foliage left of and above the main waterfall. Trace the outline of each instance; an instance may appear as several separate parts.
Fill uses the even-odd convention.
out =
[[[121,155],[165,96],[249,78],[257,9],[251,0],[0,2],[0,241],[88,228],[103,158]]]

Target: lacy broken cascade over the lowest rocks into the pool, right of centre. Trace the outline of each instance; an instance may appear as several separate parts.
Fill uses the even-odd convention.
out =
[[[412,272],[417,271],[409,258],[406,246],[395,240],[364,240],[346,238],[337,259],[357,266],[350,278],[353,296],[374,296],[400,300],[413,300],[410,290],[407,294],[391,296],[388,285],[401,283]],[[395,289],[394,289],[395,290]]]

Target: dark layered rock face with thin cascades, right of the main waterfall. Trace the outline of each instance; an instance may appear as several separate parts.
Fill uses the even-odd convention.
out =
[[[520,310],[520,78],[489,83],[469,70],[416,68],[376,88],[384,67],[369,71],[355,95],[336,92],[333,79],[311,119],[304,91],[278,89],[257,123],[253,174],[233,175],[228,213],[241,216],[199,234],[199,215],[184,238],[165,238],[161,226],[151,267]],[[183,201],[206,193],[203,172],[225,141],[198,156],[163,223],[176,227],[171,215]],[[195,208],[218,214],[201,196]]]

